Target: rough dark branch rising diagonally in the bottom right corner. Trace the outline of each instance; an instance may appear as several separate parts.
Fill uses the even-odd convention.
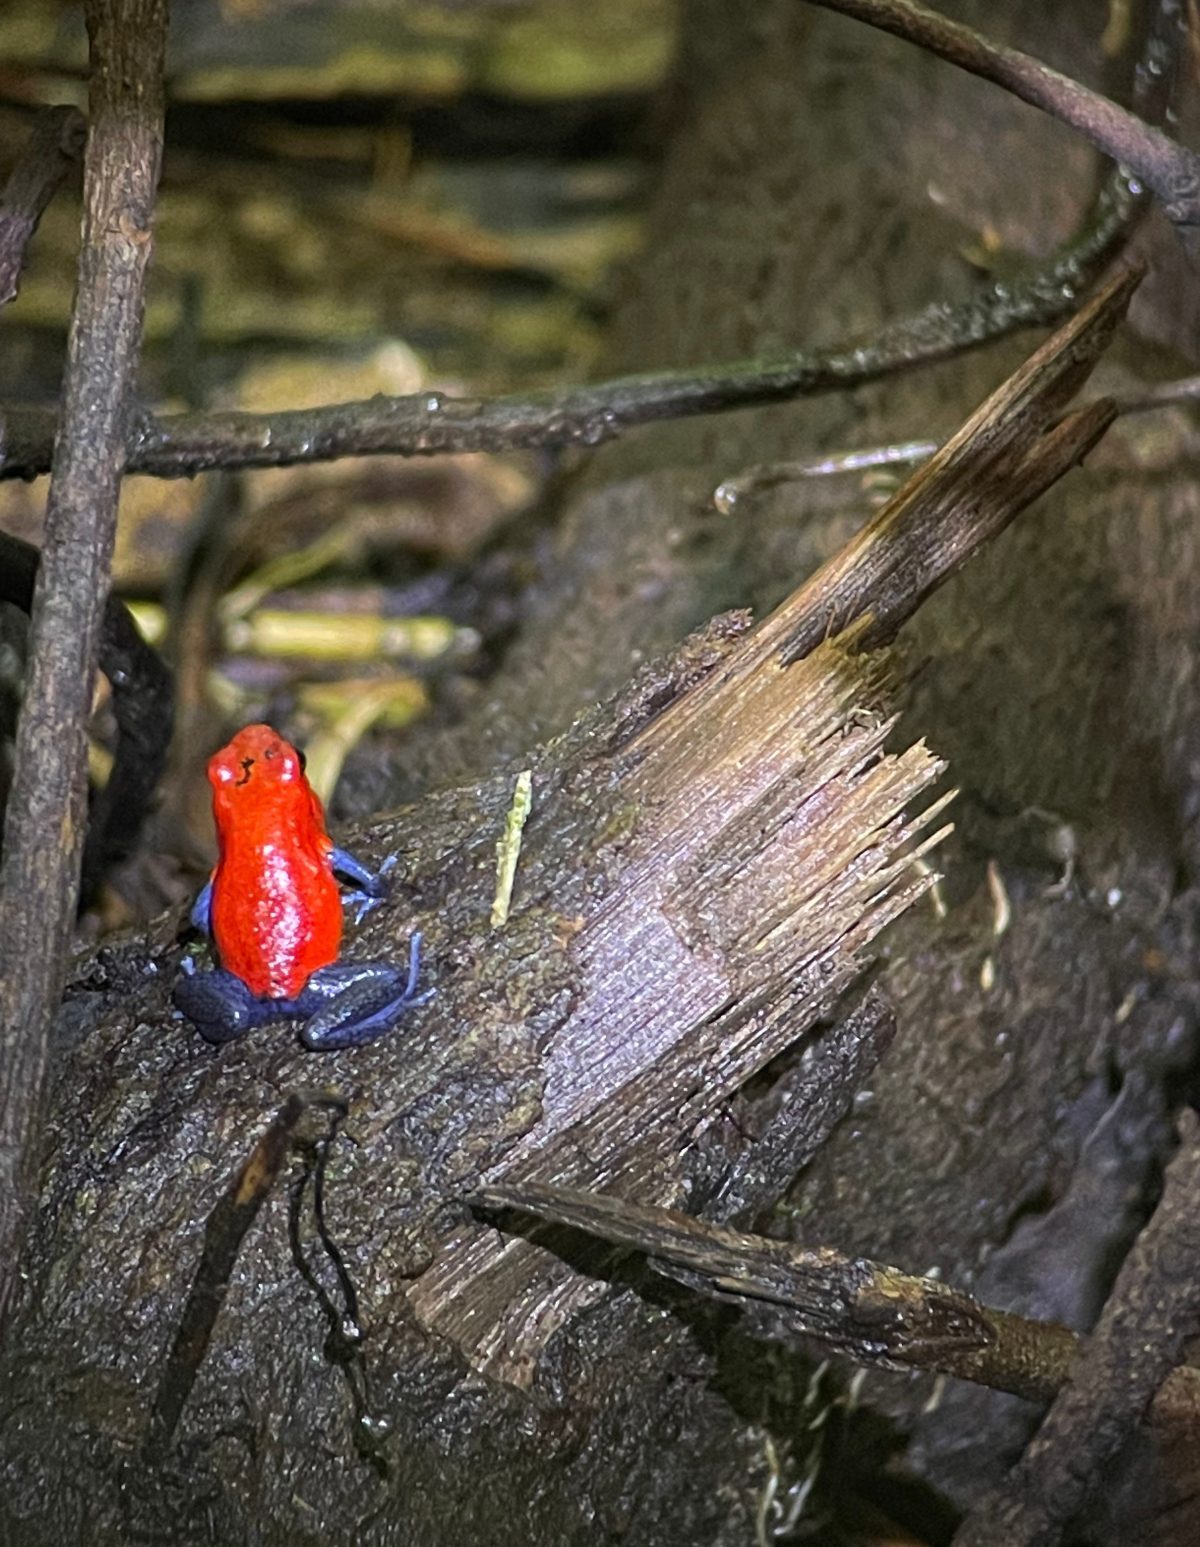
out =
[[[1200,1122],[1185,1114],[1163,1200],[1028,1450],[954,1547],[1055,1547],[1200,1332]],[[1174,1380],[1181,1372],[1175,1371]],[[1161,1388],[1161,1391],[1160,1391]]]

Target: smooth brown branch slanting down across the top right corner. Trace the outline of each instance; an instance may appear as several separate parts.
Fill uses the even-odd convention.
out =
[[[1098,91],[1050,70],[1016,48],[1004,48],[960,22],[914,0],[810,0],[926,48],[960,70],[994,80],[1022,102],[1042,108],[1086,135],[1106,156],[1137,173],[1177,226],[1200,224],[1200,156],[1144,124]]]

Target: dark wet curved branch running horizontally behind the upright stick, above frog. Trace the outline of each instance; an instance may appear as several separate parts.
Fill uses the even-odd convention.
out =
[[[339,456],[598,446],[659,419],[855,387],[1065,317],[1121,248],[1138,207],[1126,179],[1115,175],[1086,227],[1045,268],[1011,285],[993,285],[960,306],[928,306],[869,342],[492,399],[414,393],[283,413],[144,416],[130,425],[125,469],[190,478],[218,467],[278,467]],[[49,410],[0,408],[0,478],[45,472],[54,429]]]

